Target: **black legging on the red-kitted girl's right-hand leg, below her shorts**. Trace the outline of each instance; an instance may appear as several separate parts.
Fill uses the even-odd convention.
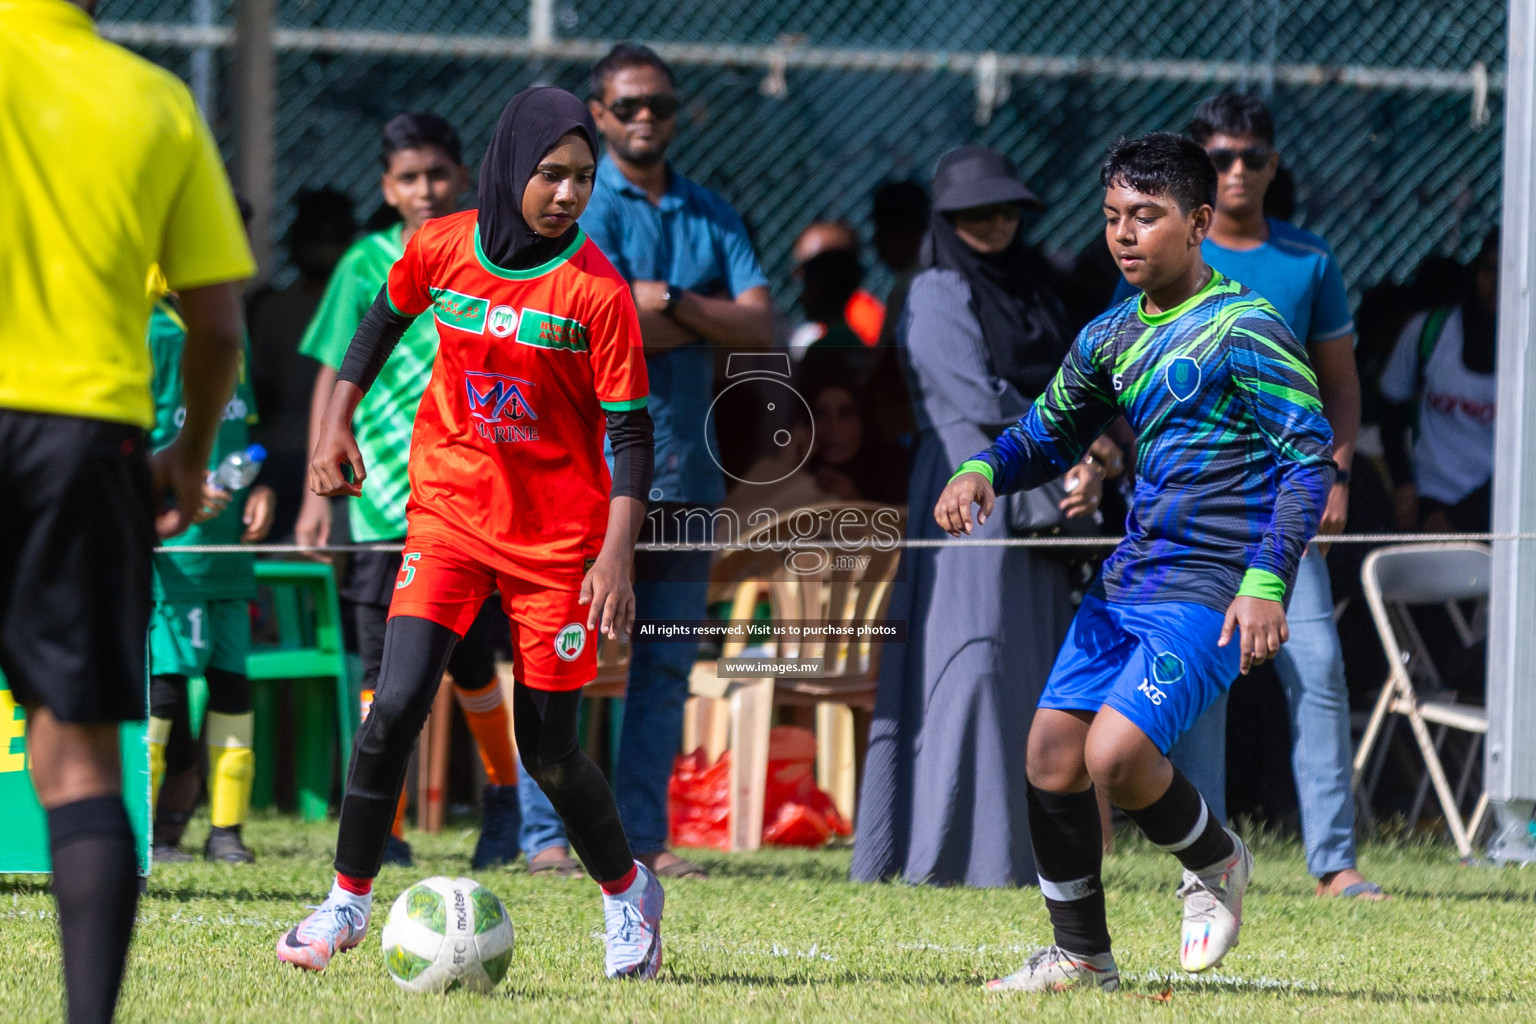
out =
[[[576,742],[579,708],[579,689],[533,689],[522,680],[511,688],[511,728],[522,766],[554,804],[591,880],[617,881],[630,874],[634,855],[608,780]]]

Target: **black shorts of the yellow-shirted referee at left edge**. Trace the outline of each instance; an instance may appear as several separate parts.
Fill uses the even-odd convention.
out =
[[[0,671],[23,706],[144,717],[154,488],[144,431],[0,408]]]

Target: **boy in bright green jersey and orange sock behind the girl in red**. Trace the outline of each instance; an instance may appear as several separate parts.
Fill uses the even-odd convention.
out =
[[[300,352],[316,359],[315,401],[310,407],[310,447],[318,436],[319,415],[330,398],[336,370],[347,353],[362,315],[379,293],[389,270],[406,252],[410,236],[435,216],[453,213],[458,197],[470,187],[458,132],[433,114],[398,114],[384,124],[379,155],[384,173],[379,189],[384,201],[399,210],[401,224],[367,235],[355,243],[326,286],[326,295],[300,342]],[[396,543],[406,539],[406,499],[410,497],[407,459],[416,407],[432,378],[438,355],[438,330],[422,316],[406,330],[399,345],[384,364],[378,382],[369,390],[353,421],[358,447],[369,467],[369,487],[347,508],[352,540],[358,543]],[[321,547],[330,539],[330,502],[307,488],[293,528],[300,543]],[[384,656],[384,622],[399,576],[399,553],[356,551],[350,557],[341,594],[352,602],[356,617],[358,654],[362,657],[362,689],[373,689]],[[487,617],[495,617],[495,602],[487,614],[455,646],[449,660],[455,695],[479,745],[487,786],[481,818],[481,838],[475,847],[476,869],[510,863],[518,857],[518,765],[511,748],[507,709],[496,677],[495,652]],[[410,846],[404,840],[404,795],[395,817],[395,831],[384,863],[409,864]],[[536,851],[530,851],[535,854]],[[545,857],[556,869],[573,867],[567,851]],[[542,863],[541,863],[542,864]],[[541,864],[533,864],[539,867]]]

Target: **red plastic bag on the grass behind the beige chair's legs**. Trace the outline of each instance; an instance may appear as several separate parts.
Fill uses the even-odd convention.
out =
[[[833,835],[851,835],[831,797],[816,786],[816,735],[796,726],[768,734],[768,778],[763,794],[763,843],[820,846]],[[673,761],[670,797],[674,846],[731,846],[731,752],[714,765],[703,748]]]

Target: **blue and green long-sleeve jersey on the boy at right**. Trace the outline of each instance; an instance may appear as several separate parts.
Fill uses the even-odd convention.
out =
[[[1094,585],[1114,602],[1284,600],[1333,484],[1316,378],[1256,292],[1210,282],[1155,316],[1126,299],[1077,336],[1051,387],[962,471],[998,494],[1055,479],[1117,416],[1138,438],[1126,539]]]

